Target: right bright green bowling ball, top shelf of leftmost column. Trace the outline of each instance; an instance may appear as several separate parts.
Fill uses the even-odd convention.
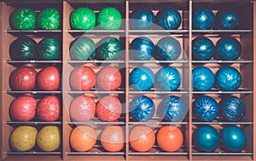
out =
[[[61,14],[58,9],[45,8],[37,17],[38,27],[44,30],[56,30],[61,26]]]

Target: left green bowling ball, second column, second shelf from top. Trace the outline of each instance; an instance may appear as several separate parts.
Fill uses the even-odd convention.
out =
[[[89,37],[78,37],[70,44],[69,55],[72,60],[92,60],[95,49],[96,44]]]

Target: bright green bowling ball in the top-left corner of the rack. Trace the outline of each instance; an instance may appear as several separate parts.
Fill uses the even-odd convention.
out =
[[[36,28],[36,13],[32,9],[15,9],[9,17],[10,26],[14,30],[34,30]]]

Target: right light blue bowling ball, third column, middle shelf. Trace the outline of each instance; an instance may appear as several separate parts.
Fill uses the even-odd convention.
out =
[[[165,66],[156,73],[156,82],[160,89],[176,90],[181,83],[181,76],[176,68]]]

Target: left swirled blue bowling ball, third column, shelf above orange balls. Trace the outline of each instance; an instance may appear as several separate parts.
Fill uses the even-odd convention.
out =
[[[154,109],[154,102],[145,95],[136,97],[130,103],[131,116],[137,121],[147,121],[152,118]]]

